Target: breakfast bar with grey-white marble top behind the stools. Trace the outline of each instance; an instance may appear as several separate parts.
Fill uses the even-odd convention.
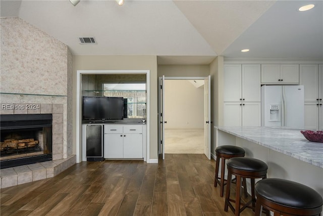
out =
[[[305,184],[323,196],[323,143],[310,142],[300,129],[216,126],[216,146],[235,145],[246,157],[268,165],[268,178]]]

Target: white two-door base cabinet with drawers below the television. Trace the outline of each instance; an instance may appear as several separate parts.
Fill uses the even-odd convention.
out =
[[[142,125],[104,125],[104,158],[143,158]]]

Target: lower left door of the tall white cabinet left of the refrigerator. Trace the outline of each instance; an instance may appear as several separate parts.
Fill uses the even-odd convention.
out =
[[[241,126],[242,125],[242,103],[241,102],[224,102],[223,123],[224,126]]]

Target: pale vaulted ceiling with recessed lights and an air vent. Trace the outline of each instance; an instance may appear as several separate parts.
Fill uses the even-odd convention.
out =
[[[298,8],[313,3],[307,12]],[[322,1],[1,0],[17,16],[66,44],[73,55],[156,55],[159,64],[225,58],[323,59]],[[97,44],[81,45],[79,37]],[[242,53],[242,49],[250,49]]]

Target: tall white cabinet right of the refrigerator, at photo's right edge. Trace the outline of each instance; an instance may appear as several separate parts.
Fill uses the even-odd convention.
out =
[[[323,130],[323,64],[300,64],[304,85],[305,129]]]

